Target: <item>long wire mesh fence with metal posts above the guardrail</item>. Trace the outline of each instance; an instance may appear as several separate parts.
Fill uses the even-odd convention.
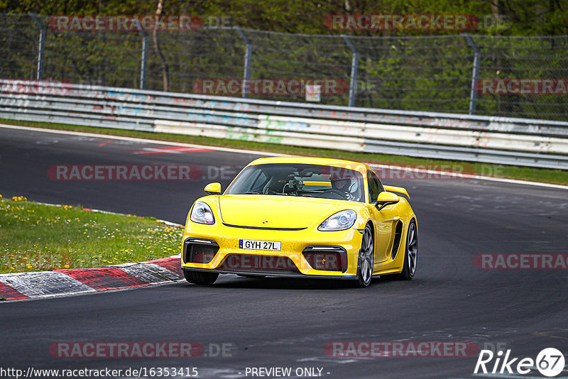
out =
[[[280,101],[306,101],[306,84],[318,84],[320,104],[568,118],[567,35],[471,35],[469,42],[466,35],[67,31],[50,25],[48,16],[0,15],[1,79]]]

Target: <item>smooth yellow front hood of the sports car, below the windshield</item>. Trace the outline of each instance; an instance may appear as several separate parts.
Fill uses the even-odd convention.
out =
[[[351,207],[350,207],[351,205]],[[223,222],[259,228],[307,228],[353,204],[342,200],[262,194],[231,194],[219,197]]]

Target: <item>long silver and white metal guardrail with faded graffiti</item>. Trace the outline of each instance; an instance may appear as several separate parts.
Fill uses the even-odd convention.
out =
[[[0,80],[0,118],[568,169],[568,122]]]

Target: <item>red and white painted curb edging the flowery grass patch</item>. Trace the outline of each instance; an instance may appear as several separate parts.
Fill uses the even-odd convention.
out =
[[[61,207],[60,204],[46,204]],[[83,208],[88,212],[120,214],[99,209]],[[124,214],[121,214],[126,216]],[[157,220],[170,226],[182,226]],[[33,273],[0,274],[0,300],[39,299],[79,295],[89,292],[146,287],[183,279],[180,256],[170,256],[138,263],[122,263],[96,268],[67,268],[65,270]]]

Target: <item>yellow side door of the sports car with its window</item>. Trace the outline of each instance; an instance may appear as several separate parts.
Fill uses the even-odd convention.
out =
[[[381,181],[375,172],[367,172],[369,203],[375,204],[378,194],[384,191]],[[393,240],[393,224],[398,220],[398,207],[396,204],[388,205],[378,211],[376,207],[370,207],[375,220],[375,265],[384,263],[391,258],[391,245]]]

